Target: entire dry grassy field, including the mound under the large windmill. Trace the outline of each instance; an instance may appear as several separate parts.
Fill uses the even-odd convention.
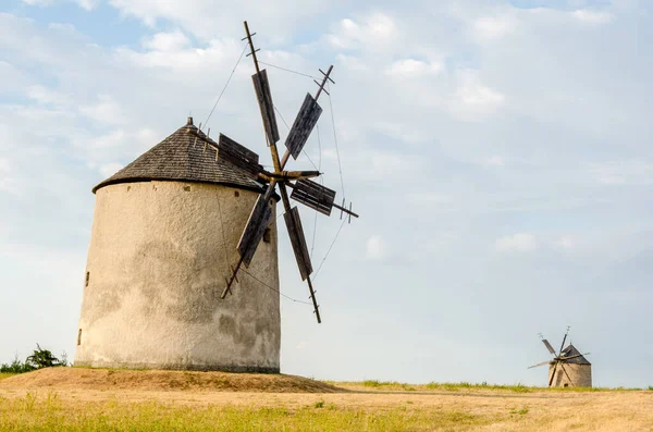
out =
[[[653,391],[52,368],[0,375],[0,430],[653,431]]]

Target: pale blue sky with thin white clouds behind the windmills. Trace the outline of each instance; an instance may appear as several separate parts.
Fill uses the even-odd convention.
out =
[[[545,385],[545,368],[527,369],[550,357],[538,334],[557,347],[569,325],[594,385],[653,385],[652,13],[643,0],[2,0],[0,362],[36,343],[73,358],[93,186],[188,114],[207,124],[247,20],[261,61],[334,65],[306,150],[361,215],[336,237],[337,213],[301,210],[323,323],[282,298],[282,372]],[[289,123],[316,86],[268,69]],[[271,164],[252,71],[244,58],[208,127]],[[279,248],[282,293],[306,300],[287,236]]]

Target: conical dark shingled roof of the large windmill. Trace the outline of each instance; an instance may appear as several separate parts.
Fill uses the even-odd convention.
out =
[[[246,171],[217,158],[215,147],[205,145],[202,139],[196,139],[198,134],[206,138],[206,135],[193,125],[193,118],[188,118],[185,126],[98,184],[93,188],[93,193],[116,183],[152,180],[215,183],[256,192],[263,190],[263,185],[252,180]]]

